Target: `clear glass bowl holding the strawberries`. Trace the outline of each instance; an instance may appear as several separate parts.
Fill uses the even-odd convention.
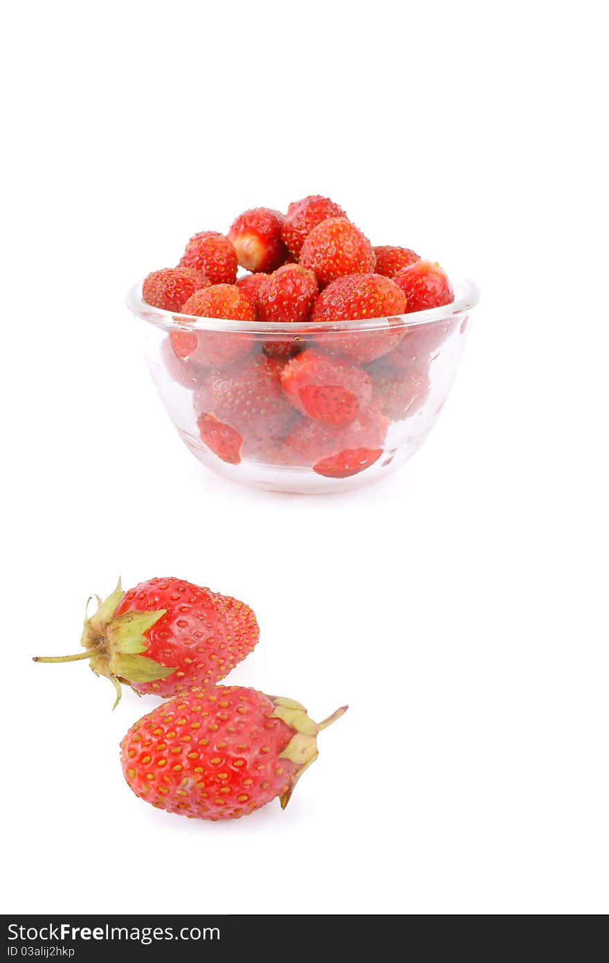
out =
[[[417,452],[450,391],[478,289],[444,307],[364,321],[195,318],[127,296],[165,409],[217,474],[269,491],[331,493]]]

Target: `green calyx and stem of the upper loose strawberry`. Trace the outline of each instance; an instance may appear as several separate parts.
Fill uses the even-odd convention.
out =
[[[38,656],[34,659],[34,662],[48,663],[89,659],[89,667],[95,675],[104,675],[113,683],[116,690],[114,708],[122,694],[121,683],[132,685],[136,682],[154,682],[156,679],[166,679],[175,671],[175,666],[167,667],[141,654],[147,647],[144,633],[165,615],[166,610],[123,612],[122,615],[114,615],[123,595],[119,579],[112,595],[103,602],[98,595],[95,596],[97,611],[90,618],[89,599],[81,637],[84,652],[74,656]]]

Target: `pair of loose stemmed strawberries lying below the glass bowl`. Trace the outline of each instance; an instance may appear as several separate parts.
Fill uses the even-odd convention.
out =
[[[254,648],[256,615],[229,595],[156,578],[112,595],[85,620],[83,651],[35,662],[88,659],[109,678],[165,701],[121,742],[123,774],[158,809],[201,820],[247,816],[278,797],[288,804],[317,758],[317,735],[346,706],[314,722],[299,702],[243,686],[218,686]]]

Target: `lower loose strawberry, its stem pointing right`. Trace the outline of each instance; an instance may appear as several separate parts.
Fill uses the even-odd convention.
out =
[[[241,686],[195,689],[140,718],[120,743],[133,792],[158,809],[234,820],[279,797],[284,809],[317,759],[318,724],[292,699]]]

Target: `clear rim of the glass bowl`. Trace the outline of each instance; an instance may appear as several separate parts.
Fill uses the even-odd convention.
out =
[[[465,314],[476,306],[480,299],[477,284],[469,277],[462,278],[454,284],[455,299],[443,307],[430,308],[427,311],[413,311],[411,314],[392,315],[393,325],[414,327],[415,325],[432,325],[437,321],[444,321],[456,315]],[[165,311],[163,308],[153,307],[141,299],[141,283],[134,284],[126,298],[127,307],[133,314],[143,321],[166,331],[232,331],[240,334],[306,334],[315,332],[323,334],[329,331],[375,331],[387,327],[388,318],[363,318],[358,321],[321,321],[312,323],[291,322],[279,324],[259,321],[231,321],[225,318],[198,318],[191,314],[179,314],[175,311]]]

